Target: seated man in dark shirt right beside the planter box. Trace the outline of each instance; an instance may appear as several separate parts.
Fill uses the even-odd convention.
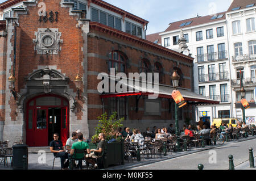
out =
[[[97,164],[93,160],[93,158],[99,157],[102,154],[102,152],[106,149],[105,134],[104,133],[98,134],[98,139],[100,140],[100,142],[98,143],[97,148],[91,149],[90,151],[92,151],[92,153],[86,154],[85,156],[86,162],[91,163],[94,169],[96,169]]]

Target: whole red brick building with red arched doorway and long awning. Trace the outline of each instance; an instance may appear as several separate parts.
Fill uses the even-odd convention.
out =
[[[180,75],[188,105],[179,119],[193,118],[193,58],[145,40],[147,20],[101,0],[9,0],[0,4],[0,140],[47,146],[54,132],[63,142],[80,129],[92,137],[105,111],[131,128],[174,123],[170,75]],[[159,98],[101,94],[99,73],[159,73]],[[180,125],[183,124],[180,121]]]

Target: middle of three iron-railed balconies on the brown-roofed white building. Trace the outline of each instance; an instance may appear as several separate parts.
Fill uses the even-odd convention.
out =
[[[201,74],[198,77],[199,82],[226,81],[229,79],[227,71],[213,74]]]

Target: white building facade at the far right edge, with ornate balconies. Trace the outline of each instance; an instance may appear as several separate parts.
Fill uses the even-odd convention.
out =
[[[226,13],[229,32],[229,56],[231,66],[231,86],[234,116],[242,119],[240,71],[245,99],[250,108],[245,110],[246,123],[255,124],[255,87],[256,87],[256,7],[255,3],[230,7]]]

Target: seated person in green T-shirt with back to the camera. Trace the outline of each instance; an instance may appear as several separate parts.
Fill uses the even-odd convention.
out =
[[[72,149],[70,151],[70,157],[73,157],[75,159],[82,159],[85,157],[85,154],[76,153],[75,150],[86,150],[87,153],[90,153],[90,149],[88,143],[83,141],[84,137],[82,133],[78,133],[77,137],[78,141],[73,143]],[[82,160],[79,161],[79,168],[82,169]]]

